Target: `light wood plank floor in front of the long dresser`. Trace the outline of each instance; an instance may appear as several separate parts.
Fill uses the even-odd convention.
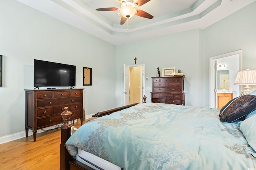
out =
[[[86,121],[84,121],[85,123]],[[76,128],[80,122],[74,123]],[[0,170],[59,170],[60,128],[0,145]]]

